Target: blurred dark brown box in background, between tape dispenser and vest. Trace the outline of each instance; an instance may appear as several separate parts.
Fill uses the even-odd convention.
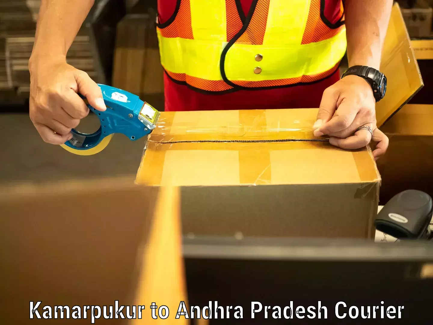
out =
[[[117,25],[112,84],[163,110],[164,70],[155,20],[153,12],[129,14]]]

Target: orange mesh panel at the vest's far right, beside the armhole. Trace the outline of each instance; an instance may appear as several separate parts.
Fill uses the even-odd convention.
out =
[[[340,5],[340,12],[343,14],[343,3]],[[344,20],[344,17],[342,18]],[[304,36],[301,44],[324,41],[336,36],[344,26],[332,29],[323,23],[320,17],[320,0],[311,0],[310,11],[308,13],[307,25],[305,26]]]

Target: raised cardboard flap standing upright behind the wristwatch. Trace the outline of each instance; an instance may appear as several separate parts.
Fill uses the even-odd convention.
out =
[[[388,121],[423,87],[414,49],[398,3],[392,8],[380,71],[385,74],[388,85],[385,97],[376,104],[378,127]]]

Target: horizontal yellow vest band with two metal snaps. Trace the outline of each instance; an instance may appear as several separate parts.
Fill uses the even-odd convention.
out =
[[[346,29],[331,39],[298,46],[234,44],[226,54],[229,80],[263,81],[316,75],[333,68],[346,52]],[[260,62],[256,54],[262,54]],[[254,73],[259,66],[262,72]]]

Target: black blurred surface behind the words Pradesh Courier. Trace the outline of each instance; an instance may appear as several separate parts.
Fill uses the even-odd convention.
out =
[[[417,262],[330,262],[282,260],[187,259],[188,302],[191,306],[242,306],[243,319],[212,319],[213,324],[431,324],[429,296],[433,280],[410,277],[408,271]],[[251,318],[251,302],[261,302],[263,309]],[[265,306],[315,306],[327,308],[327,319],[273,319],[271,309],[264,319]],[[335,306],[404,306],[401,319],[338,319]],[[214,308],[214,307],[212,307]],[[213,312],[213,311],[212,311]],[[304,314],[305,316],[307,314]]]

